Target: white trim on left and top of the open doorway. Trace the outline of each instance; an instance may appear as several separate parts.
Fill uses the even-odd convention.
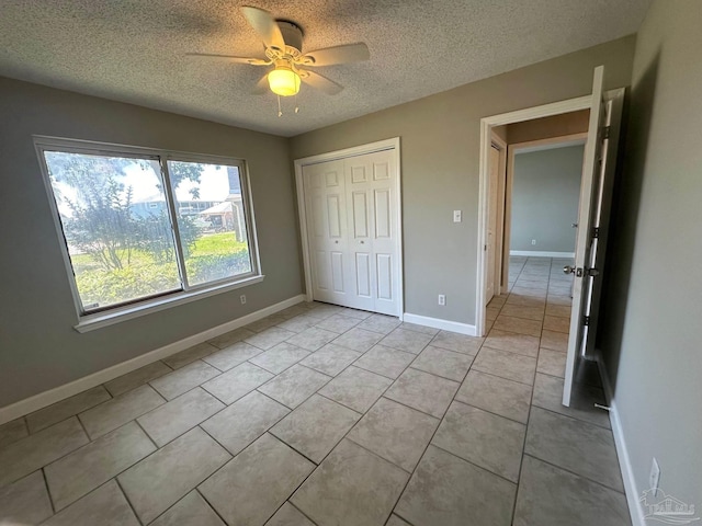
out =
[[[480,119],[480,160],[479,160],[479,182],[478,182],[478,236],[477,236],[477,272],[476,272],[476,298],[475,298],[475,333],[484,335],[486,327],[485,302],[485,279],[487,277],[487,258],[485,241],[487,239],[487,199],[488,199],[488,178],[489,155],[492,144],[492,126],[522,123],[534,118],[551,117],[563,113],[589,110],[592,103],[592,95],[568,99],[565,101],[544,104],[541,106],[528,107],[516,112],[501,113]],[[509,261],[509,260],[508,260]]]

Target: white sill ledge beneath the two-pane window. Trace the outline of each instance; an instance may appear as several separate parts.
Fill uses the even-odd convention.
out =
[[[189,304],[216,294],[228,293],[229,290],[236,290],[237,288],[261,283],[263,277],[265,276],[261,274],[258,276],[247,277],[246,279],[241,279],[237,283],[228,283],[225,285],[217,285],[199,290],[189,290],[185,293],[176,293],[170,296],[145,301],[138,305],[129,305],[128,307],[114,309],[109,312],[86,315],[80,318],[80,321],[73,327],[73,329],[80,333],[94,331],[95,329],[102,329],[103,327],[114,325],[115,323],[121,323],[126,320],[133,320],[134,318],[140,318],[152,312],[170,309],[178,305]]]

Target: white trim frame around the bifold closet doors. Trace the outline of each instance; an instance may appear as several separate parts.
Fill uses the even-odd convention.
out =
[[[307,237],[307,213],[305,207],[305,185],[303,180],[303,168],[310,164],[319,164],[320,162],[337,161],[341,159],[348,159],[351,157],[364,156],[366,153],[375,153],[378,151],[390,150],[393,152],[393,160],[395,162],[395,199],[396,211],[395,219],[397,220],[397,239],[395,240],[395,250],[397,254],[397,316],[400,321],[405,313],[405,278],[404,278],[404,264],[403,264],[403,193],[401,193],[401,173],[400,170],[400,140],[399,137],[393,137],[385,140],[378,140],[376,142],[370,142],[366,145],[354,146],[351,148],[344,148],[342,150],[329,151],[326,153],[319,153],[316,156],[304,157],[302,159],[295,159],[295,188],[297,191],[297,217],[299,219],[299,236],[302,240],[303,252],[303,267],[305,273],[305,295],[306,300],[313,300],[312,289],[312,263],[309,255],[309,239]]]

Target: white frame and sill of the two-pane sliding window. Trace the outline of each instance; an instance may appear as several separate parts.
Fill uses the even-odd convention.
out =
[[[52,216],[54,217],[54,226],[56,227],[56,233],[59,239],[61,255],[70,284],[77,317],[75,329],[78,332],[87,332],[100,329],[102,327],[112,325],[114,323],[120,323],[122,321],[146,316],[151,312],[158,312],[160,310],[203,299],[216,294],[235,290],[237,288],[253,285],[263,281],[264,275],[261,271],[261,260],[259,256],[256,230],[256,216],[253,213],[253,196],[249,184],[248,164],[244,159],[155,148],[141,148],[136,146],[109,142],[95,142],[80,139],[65,139],[58,137],[34,136],[33,138],[34,148],[38,157],[39,169],[42,171],[42,176],[44,180],[44,186],[46,188],[46,195],[48,198],[49,207],[52,209]],[[126,305],[123,304],[115,307],[107,307],[104,310],[98,312],[84,312],[80,293],[78,291],[78,286],[76,284],[76,276],[73,273],[70,253],[68,251],[68,243],[66,242],[64,226],[58,213],[58,206],[56,204],[56,197],[48,174],[44,151],[61,151],[66,153],[87,153],[103,156],[128,156],[157,161],[161,169],[166,206],[172,221],[176,259],[178,262],[178,271],[181,277],[182,288],[174,291],[167,290],[157,296],[140,298]],[[237,167],[239,169],[241,202],[244,204],[244,217],[247,230],[247,241],[249,245],[249,258],[251,260],[251,272],[239,274],[230,278],[207,282],[200,285],[188,284],[186,273],[184,272],[185,264],[181,249],[180,232],[177,221],[178,215],[176,214],[176,201],[173,199],[173,188],[170,184],[170,174],[168,171],[168,161],[224,164]]]

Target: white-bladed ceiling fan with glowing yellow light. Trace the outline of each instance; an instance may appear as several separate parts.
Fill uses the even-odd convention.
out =
[[[333,95],[343,90],[343,87],[307,68],[371,58],[369,48],[363,43],[327,47],[303,54],[303,31],[299,26],[288,21],[275,20],[271,13],[259,8],[245,5],[241,12],[263,41],[265,59],[207,53],[189,53],[188,55],[251,66],[273,66],[273,69],[258,82],[254,93],[264,93],[270,88],[273,93],[281,96],[295,95],[299,91],[302,81]]]

